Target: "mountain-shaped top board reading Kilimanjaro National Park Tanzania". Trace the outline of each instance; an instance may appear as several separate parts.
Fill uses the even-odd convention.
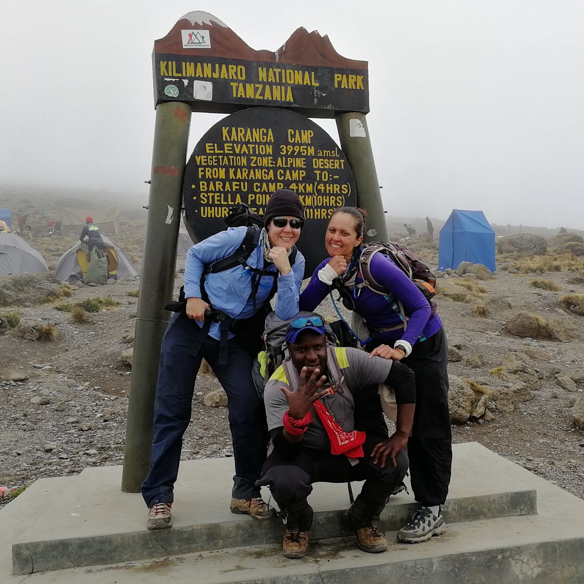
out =
[[[232,113],[275,106],[310,117],[369,112],[366,61],[339,55],[328,36],[296,30],[277,51],[256,51],[207,12],[190,12],[154,43],[156,103]]]

